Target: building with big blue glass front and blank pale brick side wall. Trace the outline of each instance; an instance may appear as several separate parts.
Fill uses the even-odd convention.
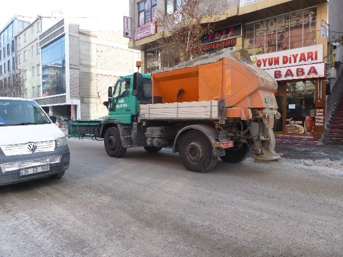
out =
[[[58,117],[106,115],[102,102],[108,98],[108,87],[133,73],[140,58],[127,43],[122,32],[80,30],[77,21],[60,20],[38,38],[41,92],[34,99]]]

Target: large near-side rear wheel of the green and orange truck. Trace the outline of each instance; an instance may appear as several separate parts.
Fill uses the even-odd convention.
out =
[[[179,144],[180,161],[191,172],[204,173],[213,168],[218,157],[212,156],[212,144],[198,131],[187,132]]]

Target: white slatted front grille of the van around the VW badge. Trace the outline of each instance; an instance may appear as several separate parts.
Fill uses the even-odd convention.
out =
[[[43,142],[34,142],[37,145],[35,153],[39,152],[50,152],[55,149],[55,141],[43,141]],[[0,145],[0,148],[6,156],[12,155],[28,155],[31,154],[27,144],[8,144]]]

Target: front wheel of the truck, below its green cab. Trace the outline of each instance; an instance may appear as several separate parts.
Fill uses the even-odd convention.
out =
[[[126,153],[126,147],[121,144],[118,127],[110,127],[105,132],[104,144],[106,153],[115,158],[123,157]]]

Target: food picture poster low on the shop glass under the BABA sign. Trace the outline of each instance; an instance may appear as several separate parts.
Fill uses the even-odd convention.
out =
[[[313,117],[287,117],[286,133],[314,133]]]

